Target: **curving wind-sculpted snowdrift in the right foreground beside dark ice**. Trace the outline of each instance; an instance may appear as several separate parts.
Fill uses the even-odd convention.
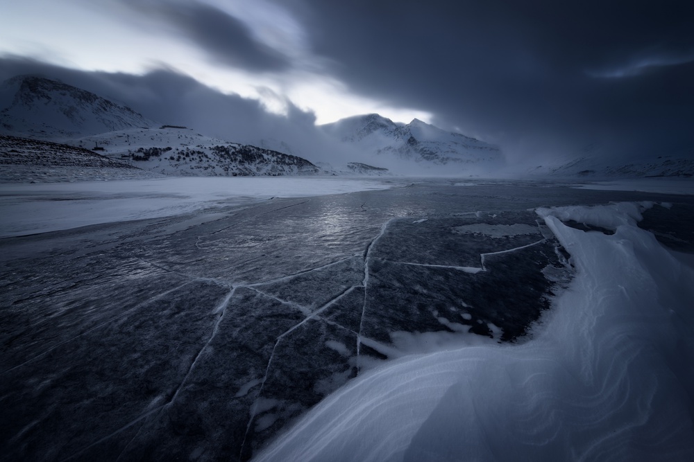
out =
[[[256,460],[694,460],[694,269],[638,229],[648,205],[540,209],[577,276],[534,339],[386,363]]]

